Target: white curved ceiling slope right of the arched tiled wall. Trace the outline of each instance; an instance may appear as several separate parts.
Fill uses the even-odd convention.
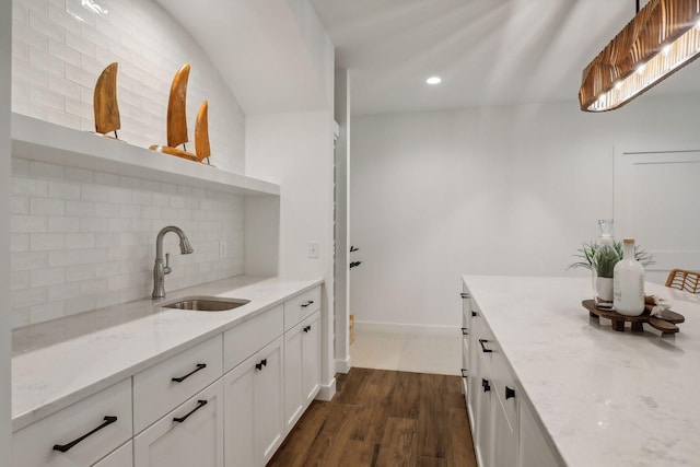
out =
[[[156,0],[246,115],[332,108],[334,48],[307,0]]]

